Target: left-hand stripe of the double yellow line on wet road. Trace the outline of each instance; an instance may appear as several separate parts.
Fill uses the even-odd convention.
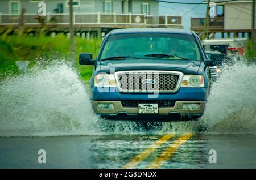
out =
[[[162,138],[157,140],[154,144],[152,144],[150,147],[148,147],[145,151],[143,151],[141,154],[135,156],[130,162],[128,162],[125,166],[122,168],[131,169],[135,168],[139,162],[143,161],[144,158],[149,156],[155,149],[160,147],[164,142],[166,142],[168,139],[172,138],[175,134],[167,134],[164,135]]]

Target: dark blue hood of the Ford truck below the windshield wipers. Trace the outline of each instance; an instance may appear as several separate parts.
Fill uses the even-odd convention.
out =
[[[169,60],[169,59],[127,59],[127,60],[109,60],[97,63],[96,74],[100,72],[110,73],[110,68],[114,71],[129,70],[165,70],[181,71],[184,74],[198,74],[200,61],[187,60]]]

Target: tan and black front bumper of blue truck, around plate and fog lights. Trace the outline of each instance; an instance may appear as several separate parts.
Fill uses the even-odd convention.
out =
[[[111,103],[114,109],[98,109],[100,103]],[[198,110],[183,110],[183,104],[196,103],[199,104]],[[131,119],[138,120],[193,120],[201,117],[204,112],[204,101],[176,101],[173,107],[158,108],[158,114],[138,114],[137,107],[124,107],[121,101],[92,101],[92,107],[96,114],[106,119]]]

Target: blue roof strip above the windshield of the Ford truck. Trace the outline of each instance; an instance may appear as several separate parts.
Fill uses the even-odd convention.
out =
[[[171,29],[171,28],[127,28],[127,29],[115,29],[111,34],[123,34],[123,33],[180,33],[192,35],[191,31],[184,29]]]

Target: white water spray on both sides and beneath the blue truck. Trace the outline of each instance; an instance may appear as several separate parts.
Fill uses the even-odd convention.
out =
[[[38,61],[0,82],[0,136],[73,136],[256,130],[255,66],[225,68],[197,122],[105,121],[93,113],[85,84],[65,60]]]

